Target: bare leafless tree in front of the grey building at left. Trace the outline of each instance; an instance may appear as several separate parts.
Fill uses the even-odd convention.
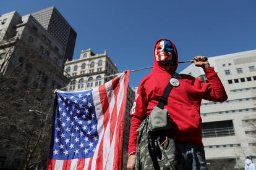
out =
[[[44,51],[26,39],[4,39],[0,53],[0,156],[21,160],[7,163],[7,168],[31,169],[47,160],[53,89],[58,79],[66,83],[68,79],[62,68],[54,67]]]

